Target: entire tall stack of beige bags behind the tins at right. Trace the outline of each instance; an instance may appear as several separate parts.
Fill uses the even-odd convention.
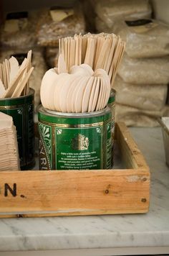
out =
[[[169,26],[151,19],[147,0],[90,0],[98,32],[113,32],[126,41],[125,55],[112,85],[116,121],[129,126],[158,126],[169,115]]]

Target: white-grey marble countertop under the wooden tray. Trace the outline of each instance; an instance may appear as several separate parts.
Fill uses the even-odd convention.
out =
[[[151,170],[148,214],[0,219],[0,251],[169,248],[169,169],[161,130],[130,131]]]

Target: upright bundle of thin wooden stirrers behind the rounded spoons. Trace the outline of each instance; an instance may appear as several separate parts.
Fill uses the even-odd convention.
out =
[[[67,72],[73,65],[90,65],[95,71],[104,69],[110,77],[111,86],[125,50],[125,42],[115,34],[74,35],[59,40],[59,54],[64,55]]]

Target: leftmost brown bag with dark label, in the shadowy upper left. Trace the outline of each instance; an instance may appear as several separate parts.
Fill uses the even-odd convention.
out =
[[[6,14],[5,22],[1,24],[1,45],[20,49],[25,46],[32,48],[37,45],[36,26],[38,14],[39,11]]]

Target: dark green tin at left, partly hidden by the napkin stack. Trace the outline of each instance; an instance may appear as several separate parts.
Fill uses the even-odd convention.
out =
[[[0,111],[13,117],[16,127],[21,170],[35,164],[34,157],[34,90],[19,98],[0,99]]]

